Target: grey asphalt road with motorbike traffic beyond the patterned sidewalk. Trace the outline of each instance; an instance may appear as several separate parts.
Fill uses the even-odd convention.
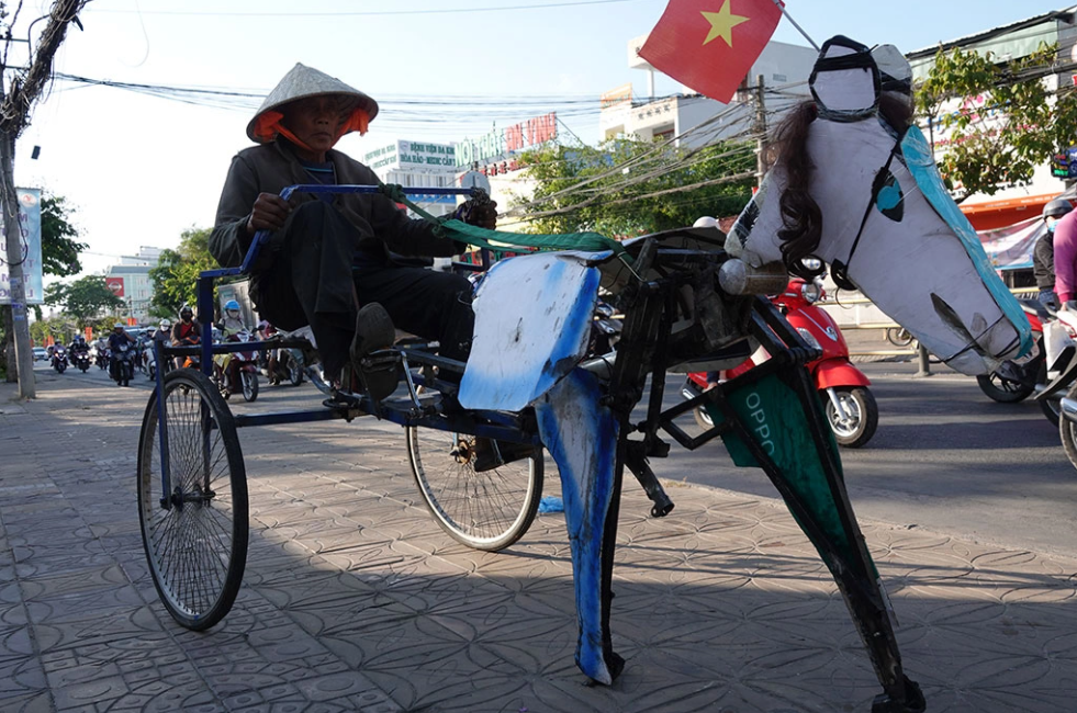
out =
[[[859,364],[873,381],[879,426],[857,450],[842,449],[850,499],[862,520],[877,520],[971,537],[1034,552],[1073,555],[1077,551],[1077,469],[1066,459],[1058,430],[1032,400],[997,404],[972,377],[942,366],[935,375],[915,377],[910,362]],[[68,371],[56,375],[38,362],[40,378],[78,387],[119,388],[106,372]],[[680,398],[682,378],[670,376],[666,404]],[[135,375],[132,388],[148,392],[149,381]],[[233,397],[236,412],[318,408],[312,386],[271,387],[261,380],[253,404]],[[698,432],[692,417],[684,428]],[[318,428],[400,428],[372,419]],[[242,433],[240,433],[242,437]],[[401,434],[401,448],[404,448]],[[762,471],[737,468],[720,441],[689,452],[676,444],[669,459],[652,468],[667,483],[676,501],[676,480],[777,497]],[[552,468],[548,468],[548,473]],[[635,487],[630,475],[626,487]],[[556,493],[553,483],[547,493]],[[675,516],[674,510],[674,516]]]

